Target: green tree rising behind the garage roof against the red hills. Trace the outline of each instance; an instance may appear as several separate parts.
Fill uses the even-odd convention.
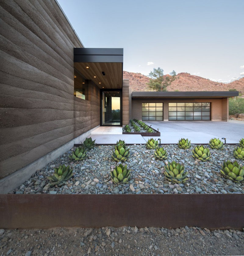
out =
[[[167,86],[169,86],[172,83],[172,81],[175,80],[176,72],[173,70],[172,72],[170,72],[170,76],[164,76],[163,69],[158,67],[154,68],[153,71],[151,71],[148,76],[151,78],[147,83],[149,88],[156,90],[158,92],[166,92]]]

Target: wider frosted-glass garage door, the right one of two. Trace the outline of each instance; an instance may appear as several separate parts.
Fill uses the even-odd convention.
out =
[[[169,103],[169,120],[211,120],[210,102]]]

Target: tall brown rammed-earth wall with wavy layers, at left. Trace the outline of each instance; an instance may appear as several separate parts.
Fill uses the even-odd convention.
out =
[[[1,1],[0,178],[99,125],[100,96],[74,97],[74,47],[55,0]]]

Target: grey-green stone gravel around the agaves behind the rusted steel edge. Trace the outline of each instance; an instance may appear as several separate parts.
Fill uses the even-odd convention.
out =
[[[223,161],[236,160],[233,157],[235,145],[225,145],[224,150],[212,150],[207,162],[192,157],[192,145],[189,150],[181,150],[177,145],[163,145],[168,152],[166,161],[175,160],[185,165],[189,180],[184,184],[171,184],[164,178],[165,161],[155,160],[154,150],[145,145],[130,145],[130,157],[125,162],[132,169],[131,179],[127,184],[115,185],[110,178],[116,162],[111,159],[113,146],[95,146],[88,151],[83,161],[70,162],[67,151],[47,166],[38,170],[19,188],[10,193],[16,194],[241,194],[244,184],[235,183],[220,175]],[[72,149],[74,150],[74,148]],[[237,160],[239,164],[244,162]],[[70,165],[73,177],[61,187],[49,187],[47,176],[53,174],[53,168],[60,164]]]

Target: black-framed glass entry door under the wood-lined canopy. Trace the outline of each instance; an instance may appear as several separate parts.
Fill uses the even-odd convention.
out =
[[[102,91],[102,125],[121,125],[121,91]]]

